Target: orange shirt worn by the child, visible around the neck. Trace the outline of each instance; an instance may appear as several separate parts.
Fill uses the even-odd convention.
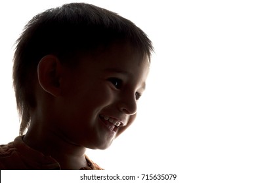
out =
[[[24,136],[18,136],[13,142],[0,146],[0,169],[1,170],[56,170],[61,169],[60,164],[51,156],[45,156],[37,150],[33,150],[23,141]],[[85,170],[102,170],[87,156],[88,167]]]

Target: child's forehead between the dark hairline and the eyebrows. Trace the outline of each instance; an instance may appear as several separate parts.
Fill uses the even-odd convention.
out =
[[[112,76],[129,80],[130,84],[144,88],[149,67],[148,57],[136,52],[131,45],[113,44],[92,54],[80,56],[72,73],[79,80]]]

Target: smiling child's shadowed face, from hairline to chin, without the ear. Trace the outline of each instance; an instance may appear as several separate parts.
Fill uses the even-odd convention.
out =
[[[121,44],[81,58],[78,67],[66,69],[63,78],[58,132],[79,146],[110,146],[135,120],[149,66],[148,58]]]

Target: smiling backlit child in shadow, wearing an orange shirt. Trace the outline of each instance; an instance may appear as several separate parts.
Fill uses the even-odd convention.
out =
[[[85,150],[108,148],[135,120],[152,51],[139,27],[103,8],[37,14],[16,45],[20,136],[0,146],[0,169],[101,169]]]

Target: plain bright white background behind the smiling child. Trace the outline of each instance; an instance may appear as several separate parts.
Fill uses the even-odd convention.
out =
[[[35,14],[70,2],[1,3],[0,144],[19,128],[13,44]],[[164,171],[179,182],[255,182],[254,1],[86,2],[135,22],[156,52],[135,124],[89,157],[110,171]]]

